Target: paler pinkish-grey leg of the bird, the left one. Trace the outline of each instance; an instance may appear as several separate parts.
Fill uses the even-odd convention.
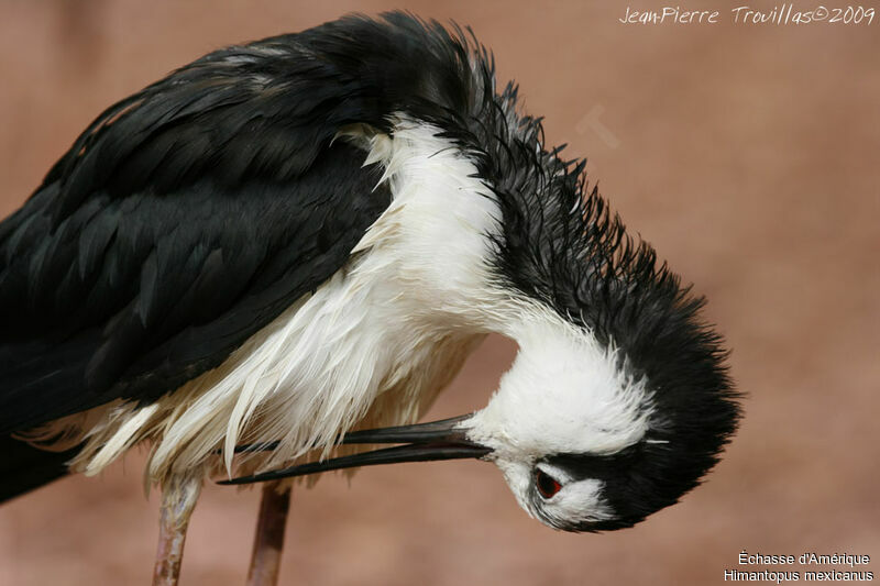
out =
[[[162,490],[158,548],[153,586],[176,586],[184,557],[189,516],[201,491],[201,477],[173,477]]]

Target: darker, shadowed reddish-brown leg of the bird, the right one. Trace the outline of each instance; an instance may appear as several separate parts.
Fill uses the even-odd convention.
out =
[[[282,486],[277,480],[265,483],[263,497],[260,500],[260,518],[256,521],[248,586],[275,586],[278,583],[284,528],[287,524],[289,509],[290,484],[285,483]]]

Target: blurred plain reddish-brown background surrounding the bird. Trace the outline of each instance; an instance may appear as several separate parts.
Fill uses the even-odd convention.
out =
[[[529,519],[488,464],[324,478],[294,496],[282,583],[715,584],[743,549],[880,560],[880,22],[734,25],[692,4],[724,22],[623,25],[617,2],[1,0],[0,217],[105,107],[208,51],[351,11],[470,24],[548,141],[588,156],[630,230],[708,296],[746,419],[705,486],[602,535]],[[513,353],[490,340],[430,417],[482,407]],[[148,583],[142,463],[0,508],[0,584]],[[183,585],[243,584],[256,506],[207,487]]]

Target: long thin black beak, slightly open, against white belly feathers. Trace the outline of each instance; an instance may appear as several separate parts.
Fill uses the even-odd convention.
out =
[[[302,476],[319,472],[351,468],[355,466],[375,466],[377,464],[397,464],[400,462],[429,462],[432,460],[458,460],[465,457],[483,457],[492,450],[475,443],[466,436],[466,425],[462,425],[471,416],[454,417],[430,423],[399,425],[362,430],[346,433],[341,444],[399,443],[395,447],[385,447],[350,456],[334,457],[323,462],[309,462],[289,468],[241,476],[219,484],[251,484],[266,480]],[[239,452],[267,451],[277,444],[241,446]]]

